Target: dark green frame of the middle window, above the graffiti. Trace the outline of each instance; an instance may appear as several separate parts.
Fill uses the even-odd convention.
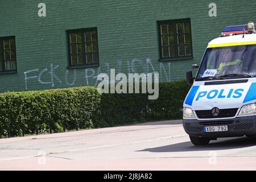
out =
[[[97,40],[96,41],[92,41],[90,40],[90,42],[85,42],[85,32],[93,32],[93,31],[96,31],[96,38]],[[98,30],[97,30],[97,27],[91,27],[91,28],[79,28],[79,29],[74,29],[74,30],[67,30],[67,43],[68,43],[68,67],[69,69],[72,69],[72,68],[90,68],[90,67],[99,67],[100,66],[100,56],[99,56],[99,50],[98,50]],[[70,34],[72,33],[81,33],[82,34],[82,52],[81,52],[81,55],[82,55],[82,64],[72,64],[72,59],[71,59],[71,44],[80,44],[80,43],[71,43],[70,41]],[[92,38],[92,37],[91,37]],[[97,57],[98,57],[98,62],[97,63],[85,63],[86,62],[86,51],[85,51],[85,48],[86,48],[86,43],[94,43],[94,42],[97,42],[97,52],[93,52],[93,48],[91,46],[91,51],[90,52],[92,55],[93,53],[96,53],[97,54]],[[78,52],[76,54],[79,54]],[[93,62],[93,60],[92,60]]]

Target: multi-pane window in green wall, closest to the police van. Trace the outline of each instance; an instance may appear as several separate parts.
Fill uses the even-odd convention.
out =
[[[191,59],[190,19],[158,22],[160,60]]]

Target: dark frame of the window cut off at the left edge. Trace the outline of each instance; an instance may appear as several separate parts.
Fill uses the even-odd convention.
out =
[[[14,53],[15,53],[15,59],[11,59],[11,45],[9,45],[9,49],[5,49],[5,44],[4,42],[6,40],[9,40],[10,39],[14,39]],[[10,44],[10,43],[9,43]],[[9,50],[9,53],[10,53],[10,64],[11,64],[11,60],[15,60],[15,69],[9,69],[9,70],[6,70],[6,66],[5,66],[5,63],[6,63],[6,59],[5,59],[5,51],[6,50]],[[2,71],[0,71],[0,75],[2,74],[10,74],[10,73],[17,73],[17,56],[16,56],[16,38],[15,36],[5,36],[5,37],[0,37],[0,56],[1,56],[1,60],[0,62],[2,61]]]

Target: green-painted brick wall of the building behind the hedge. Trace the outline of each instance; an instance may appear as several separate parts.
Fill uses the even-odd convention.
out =
[[[38,4],[46,3],[44,18]],[[217,17],[210,18],[209,3]],[[115,68],[122,73],[159,72],[160,81],[185,78],[191,64],[200,63],[209,40],[223,27],[256,22],[256,1],[208,0],[9,0],[0,2],[0,37],[16,37],[18,73],[0,75],[0,92],[95,85],[98,73]],[[159,62],[157,20],[191,18],[193,59]],[[67,69],[66,30],[98,28],[100,67]],[[53,73],[56,77],[52,77]],[[194,71],[195,73],[195,71]]]

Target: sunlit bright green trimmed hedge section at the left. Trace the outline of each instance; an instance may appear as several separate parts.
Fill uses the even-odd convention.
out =
[[[93,127],[100,98],[92,86],[0,94],[0,137]]]

